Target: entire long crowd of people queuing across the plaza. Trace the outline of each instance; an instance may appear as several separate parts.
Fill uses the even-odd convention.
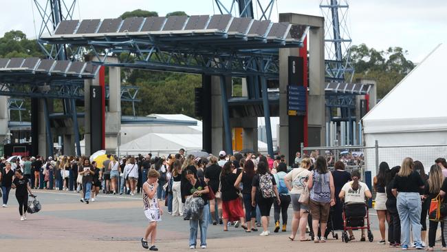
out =
[[[405,158],[401,166],[390,169],[380,163],[373,178],[373,191],[361,181],[358,170],[345,170],[343,160],[334,162],[329,170],[327,156],[296,154],[293,169],[289,170],[284,156],[271,158],[261,154],[235,154],[220,151],[219,156],[186,156],[181,149],[168,157],[127,156],[118,159],[107,156],[102,169],[88,157],[36,158],[25,157],[15,162],[2,160],[0,181],[3,207],[8,207],[8,195],[16,188],[21,220],[26,220],[28,193],[32,189],[74,189],[80,201],[89,204],[100,193],[142,193],[144,215],[149,226],[141,239],[142,246],[157,251],[155,235],[157,222],[163,214],[182,216],[190,224],[190,249],[200,244],[206,249],[208,224],[242,227],[246,232],[268,236],[273,232],[290,231],[291,241],[308,241],[309,230],[314,242],[326,242],[331,230],[342,230],[343,206],[365,203],[375,194],[380,244],[389,244],[403,250],[433,251],[438,222],[429,220],[426,247],[426,219],[430,200],[444,197],[447,192],[447,162],[437,158],[429,174],[424,165]],[[54,181],[54,183],[53,183]],[[287,230],[287,209],[292,204],[292,227]],[[274,209],[274,225],[270,228],[270,211]],[[199,209],[199,215],[191,215]],[[330,220],[330,221],[329,221]],[[328,227],[328,222],[330,226]],[[388,232],[386,232],[388,224]],[[356,240],[352,230],[349,240]],[[441,222],[442,251],[447,251],[444,240],[444,222]],[[387,234],[387,235],[386,235]],[[298,236],[297,236],[298,235]],[[386,239],[387,236],[387,239]],[[411,238],[413,242],[411,242]],[[360,241],[365,241],[362,229]],[[150,243],[150,246],[149,246]]]

